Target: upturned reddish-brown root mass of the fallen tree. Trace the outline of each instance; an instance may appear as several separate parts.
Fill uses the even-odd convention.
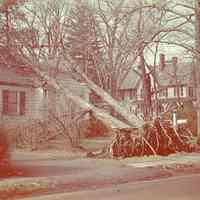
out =
[[[134,156],[167,156],[177,152],[194,152],[197,140],[185,127],[174,128],[156,119],[146,123],[142,130],[119,129],[107,151],[90,152],[88,157],[126,158]]]

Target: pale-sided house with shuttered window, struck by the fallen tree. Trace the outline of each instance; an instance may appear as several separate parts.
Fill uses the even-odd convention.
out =
[[[57,71],[56,78],[64,87],[88,100],[87,88],[68,74]],[[63,94],[42,83],[30,68],[0,64],[0,124],[16,126],[33,119],[46,119],[50,111],[67,112],[68,104]],[[72,107],[80,110],[78,106]]]

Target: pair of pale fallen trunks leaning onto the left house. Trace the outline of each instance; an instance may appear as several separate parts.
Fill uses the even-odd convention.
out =
[[[135,115],[129,115],[126,110],[123,110],[118,104],[116,100],[114,100],[108,93],[106,93],[103,89],[101,89],[99,86],[97,86],[95,83],[93,83],[90,79],[88,79],[85,74],[82,74],[84,79],[87,81],[89,87],[102,97],[103,100],[108,102],[109,105],[113,106],[113,108],[120,113],[127,121],[127,123],[124,123],[108,113],[102,111],[99,108],[96,108],[92,104],[88,103],[83,98],[73,94],[68,88],[64,88],[59,82],[57,82],[54,78],[50,77],[46,73],[42,72],[37,68],[35,65],[34,72],[40,77],[42,80],[45,80],[50,86],[52,86],[56,91],[61,91],[66,98],[71,99],[75,104],[77,104],[80,108],[88,109],[90,111],[93,111],[93,113],[96,115],[97,119],[101,120],[105,124],[109,125],[113,128],[130,128],[130,127],[138,127],[141,128],[144,125],[144,122],[137,118]],[[146,140],[145,137],[141,135],[142,140],[144,143],[151,149],[152,153],[156,155],[156,152],[154,148],[151,146],[151,144]]]

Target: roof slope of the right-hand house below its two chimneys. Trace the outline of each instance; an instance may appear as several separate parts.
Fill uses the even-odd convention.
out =
[[[168,63],[165,65],[164,69],[160,67],[156,68],[156,79],[158,80],[160,86],[176,85],[178,81],[179,84],[193,84],[193,65],[192,63],[177,63],[173,65]]]

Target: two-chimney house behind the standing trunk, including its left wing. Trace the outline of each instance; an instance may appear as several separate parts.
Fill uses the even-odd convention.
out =
[[[148,67],[151,77],[151,102],[153,114],[174,113],[181,110],[181,119],[188,118],[184,113],[194,113],[196,102],[195,71],[193,63],[180,62],[177,57],[165,61],[165,56],[160,55],[160,64]],[[142,117],[144,109],[144,89],[141,75],[130,73],[122,84],[123,98],[131,99],[132,111]],[[134,91],[134,96],[127,91]],[[190,108],[188,108],[188,106]],[[186,108],[187,107],[187,108]],[[187,110],[186,111],[184,111]],[[195,120],[195,113],[193,119]],[[172,119],[172,117],[170,117]],[[184,120],[183,120],[184,121]]]

